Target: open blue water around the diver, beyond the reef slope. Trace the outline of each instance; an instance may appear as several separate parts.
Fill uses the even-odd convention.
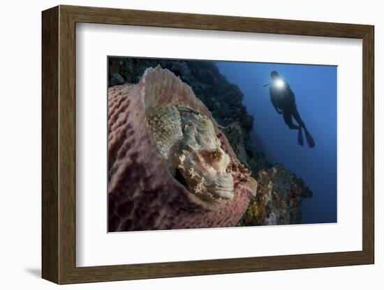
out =
[[[313,197],[302,201],[302,223],[337,222],[337,67],[218,61],[229,82],[244,93],[243,103],[255,121],[251,135],[269,162],[280,163],[303,178]],[[277,70],[295,93],[297,109],[315,139],[309,148],[297,144],[269,99],[269,77]],[[296,123],[294,121],[294,123]]]

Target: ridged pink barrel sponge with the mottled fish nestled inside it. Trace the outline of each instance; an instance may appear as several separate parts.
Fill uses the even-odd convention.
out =
[[[160,66],[108,90],[108,231],[233,227],[256,193],[211,112]]]

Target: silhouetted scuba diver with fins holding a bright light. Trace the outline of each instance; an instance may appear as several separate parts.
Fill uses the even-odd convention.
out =
[[[283,114],[283,119],[288,125],[288,128],[299,130],[299,134],[297,135],[297,142],[299,145],[304,146],[302,136],[302,129],[304,129],[308,146],[313,148],[315,146],[315,141],[311,134],[309,134],[305,123],[302,121],[302,118],[297,111],[295,94],[290,89],[289,84],[279,77],[279,73],[277,73],[276,70],[272,71],[271,79],[272,82],[270,84],[265,84],[265,86],[269,86],[269,95],[274,109],[276,109],[278,114]],[[298,125],[293,123],[292,117],[297,121]]]

